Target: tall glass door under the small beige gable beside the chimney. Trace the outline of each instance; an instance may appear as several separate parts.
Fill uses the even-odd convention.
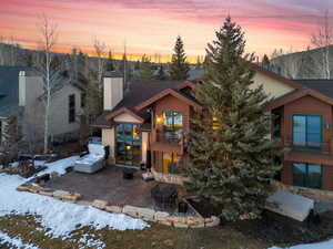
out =
[[[141,162],[141,137],[138,124],[117,125],[115,164],[139,166]]]

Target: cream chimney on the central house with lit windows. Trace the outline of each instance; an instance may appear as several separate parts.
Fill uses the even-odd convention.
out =
[[[103,108],[112,110],[123,98],[123,76],[117,72],[107,72],[103,77]]]

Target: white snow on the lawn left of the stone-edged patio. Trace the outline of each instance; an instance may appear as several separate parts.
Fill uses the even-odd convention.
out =
[[[68,157],[47,164],[48,168],[39,174],[58,172],[64,174],[78,159],[77,156]],[[93,226],[97,230],[109,227],[110,229],[143,229],[149,225],[141,219],[125,215],[109,214],[93,207],[63,203],[51,197],[30,193],[17,191],[16,188],[27,179],[14,175],[0,174],[0,216],[11,212],[26,215],[27,212],[39,216],[38,221],[51,237],[69,238],[69,234],[78,226]]]

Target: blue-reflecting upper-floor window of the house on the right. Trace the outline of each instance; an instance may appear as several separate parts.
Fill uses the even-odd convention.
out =
[[[322,116],[293,115],[293,145],[320,147],[322,143]]]

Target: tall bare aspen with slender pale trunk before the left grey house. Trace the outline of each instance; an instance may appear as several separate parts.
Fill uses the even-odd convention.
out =
[[[39,71],[43,77],[43,92],[44,92],[44,137],[43,137],[43,151],[48,153],[49,151],[49,116],[50,116],[50,107],[51,107],[51,93],[59,82],[59,71],[60,69],[52,69],[53,54],[52,50],[57,43],[58,32],[57,24],[50,21],[47,15],[41,17],[41,21],[39,23],[39,30],[41,34],[40,45],[42,46],[42,52],[44,54],[44,60],[39,66]]]

